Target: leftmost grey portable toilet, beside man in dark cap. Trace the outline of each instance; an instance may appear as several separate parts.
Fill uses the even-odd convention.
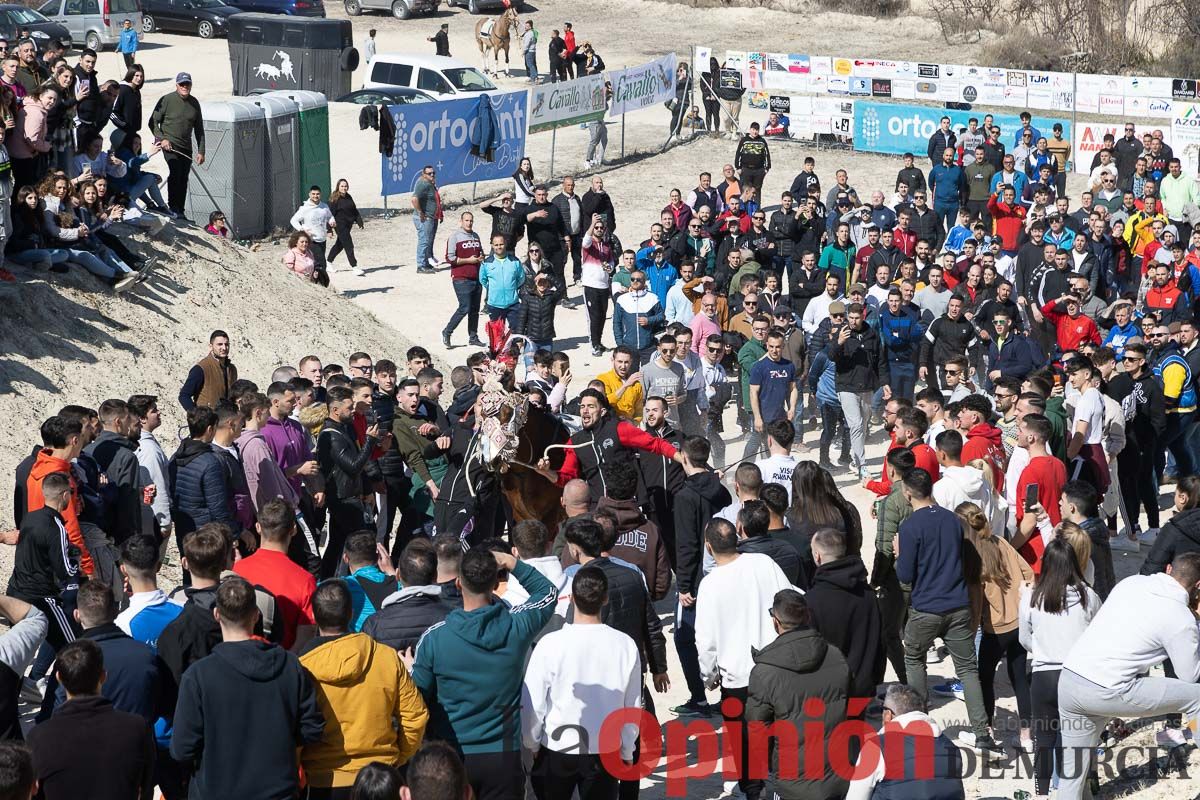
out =
[[[266,114],[244,100],[200,102],[204,163],[192,166],[187,216],[208,224],[221,211],[235,239],[262,236],[266,218]]]

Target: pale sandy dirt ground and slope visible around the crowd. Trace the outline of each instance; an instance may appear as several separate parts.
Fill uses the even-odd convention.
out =
[[[611,0],[605,4],[582,2],[581,0],[560,0],[544,6],[530,6],[538,28],[542,32],[542,42],[548,38],[550,29],[560,26],[563,22],[574,23],[577,40],[589,40],[596,47],[610,67],[640,64],[647,59],[661,55],[673,49],[680,58],[686,58],[689,46],[712,46],[724,49],[737,47],[754,37],[756,47],[767,50],[799,53],[839,54],[839,50],[852,54],[872,54],[880,58],[944,58],[944,46],[936,34],[936,26],[930,19],[910,14],[900,19],[871,20],[836,12],[787,14],[761,8],[703,8],[695,10],[682,5],[649,2],[643,0]],[[341,16],[340,8],[329,6],[330,16]],[[470,31],[475,18],[461,10],[443,11],[436,17],[418,18],[400,22],[389,17],[365,16],[354,19],[355,43],[361,41],[368,28],[378,29],[379,52],[418,52],[432,53],[433,46],[426,41],[442,22],[450,23],[451,52],[468,64],[480,64],[478,50],[470,41]],[[636,31],[636,32],[634,32]],[[632,35],[631,35],[632,34]],[[544,50],[544,46],[541,48]],[[520,62],[516,49],[512,52],[514,65]],[[539,54],[545,68],[545,54]],[[970,62],[972,53],[964,52],[955,56],[960,62]],[[139,61],[145,65],[148,76],[144,91],[145,110],[152,108],[158,95],[172,90],[173,76],[178,70],[187,68],[196,80],[196,94],[203,100],[220,100],[228,96],[230,73],[228,67],[227,46],[223,41],[205,42],[194,37],[155,34],[148,37]],[[119,56],[113,53],[102,54],[100,60],[102,77],[118,77],[121,72]],[[517,72],[517,71],[515,71]],[[504,88],[521,88],[524,84],[520,76],[500,79]],[[355,77],[355,88],[361,84],[361,71]],[[343,361],[346,355],[356,349],[366,349],[378,357],[398,360],[408,342],[427,347],[436,360],[450,367],[461,363],[469,353],[464,348],[466,333],[460,327],[455,342],[458,345],[452,353],[442,347],[438,336],[445,320],[455,307],[454,293],[449,275],[439,272],[434,276],[414,272],[415,233],[407,213],[388,217],[383,213],[383,200],[379,197],[379,156],[376,149],[374,134],[358,128],[358,107],[335,107],[331,113],[332,174],[347,178],[360,209],[367,216],[366,229],[355,231],[355,242],[360,264],[366,269],[366,276],[358,278],[348,271],[335,271],[332,279],[335,289],[344,299],[368,313],[348,311],[352,306],[335,302],[326,303],[322,291],[314,287],[298,287],[287,275],[280,275],[278,263],[283,247],[268,240],[262,249],[252,255],[236,251],[221,251],[212,254],[228,271],[222,277],[220,272],[203,276],[200,290],[192,294],[191,303],[178,303],[172,296],[170,305],[178,306],[169,313],[156,313],[154,308],[144,308],[133,313],[124,308],[125,302],[97,303],[94,297],[83,294],[71,294],[70,299],[77,308],[68,306],[50,307],[52,313],[77,315],[97,329],[95,337],[89,337],[84,347],[73,348],[72,336],[56,339],[36,339],[40,344],[36,351],[20,353],[12,363],[25,372],[8,372],[7,379],[0,385],[0,391],[7,392],[0,397],[0,411],[6,411],[8,420],[17,422],[19,435],[11,438],[2,452],[5,463],[10,467],[28,452],[31,437],[36,435],[35,419],[41,419],[58,404],[79,401],[98,403],[100,399],[115,393],[124,396],[133,389],[144,390],[149,384],[156,391],[172,397],[172,387],[182,380],[192,360],[203,354],[200,337],[212,326],[223,326],[233,333],[236,353],[250,353],[239,359],[242,374],[265,380],[266,371],[282,361],[295,362],[300,355],[312,350],[322,355],[326,362]],[[754,119],[764,119],[762,112],[743,113],[743,124]],[[727,140],[702,139],[680,146],[673,146],[659,154],[667,133],[667,114],[660,107],[638,114],[631,114],[625,121],[625,158],[619,160],[622,126],[610,122],[608,160],[617,163],[601,168],[606,188],[617,205],[620,219],[618,234],[628,242],[636,242],[648,235],[649,224],[658,218],[659,209],[667,201],[667,192],[678,187],[686,192],[696,182],[701,170],[719,174],[721,166],[732,160],[733,143]],[[583,170],[583,151],[587,145],[587,133],[577,128],[564,128],[558,132],[551,161],[550,133],[529,138],[527,154],[533,158],[535,174],[542,179],[557,181],[564,174],[587,175]],[[859,194],[874,188],[889,186],[899,169],[899,160],[887,156],[852,154],[846,151],[816,150],[798,144],[773,145],[774,168],[767,179],[766,197],[778,197],[779,192],[791,184],[792,176],[799,170],[806,155],[817,160],[817,172],[826,186],[833,184],[833,170],[850,170],[851,185]],[[151,161],[151,169],[161,161]],[[1074,176],[1073,176],[1074,178]],[[460,210],[475,210],[472,197],[484,199],[493,197],[504,182],[480,185],[478,187],[458,186],[444,191],[446,200],[446,222],[439,231],[434,252],[440,253],[445,235],[455,225]],[[1073,191],[1078,191],[1072,184]],[[582,188],[586,188],[586,184]],[[408,207],[407,198],[390,198],[389,206]],[[204,247],[203,241],[194,237],[181,239],[172,246],[181,260],[167,275],[180,284],[191,284],[190,264],[194,255],[188,251]],[[522,248],[523,253],[523,248]],[[205,253],[208,257],[209,254]],[[344,264],[342,265],[344,267]],[[196,278],[199,281],[199,278]],[[162,288],[160,287],[160,291]],[[571,290],[577,296],[580,289]],[[223,293],[223,294],[222,294]],[[239,299],[234,305],[223,305],[230,296],[256,293],[258,297],[270,296],[272,302],[265,305],[248,303]],[[6,295],[28,300],[28,295]],[[132,300],[138,306],[152,306],[143,300]],[[232,302],[232,301],[230,301]],[[299,305],[298,305],[299,303]],[[89,307],[95,307],[95,313]],[[118,307],[118,311],[113,311]],[[233,311],[234,313],[230,313]],[[143,313],[144,312],[144,313]],[[112,326],[109,318],[124,320],[121,325]],[[37,324],[36,314],[7,317],[0,327],[0,336],[13,351],[11,344],[22,342],[23,325]],[[380,324],[382,323],[382,324]],[[583,308],[562,309],[558,314],[559,343],[570,353],[572,369],[578,387],[596,373],[607,369],[607,359],[590,356],[586,333],[586,313]],[[203,331],[203,333],[202,333]],[[606,333],[606,343],[611,344],[611,332]],[[150,347],[145,347],[150,344]],[[235,357],[238,357],[235,353]],[[59,372],[47,371],[48,365],[65,362]],[[16,368],[16,367],[14,367]],[[80,397],[82,395],[82,397]],[[68,401],[68,397],[71,398]],[[178,422],[178,410],[163,428],[163,441],[168,451],[173,450],[173,428]],[[727,431],[736,429],[727,425]],[[170,432],[170,433],[168,433]],[[808,444],[814,444],[815,431],[805,437]],[[730,452],[739,453],[740,445],[731,444]],[[882,435],[876,433],[870,440],[868,453],[871,467],[878,470],[884,444]],[[871,497],[857,486],[848,476],[839,476],[846,497],[860,510],[864,528],[874,530],[870,521]],[[6,493],[7,488],[0,491]],[[7,506],[7,497],[0,498]],[[6,516],[6,515],[5,515]],[[863,557],[870,563],[871,542],[874,537],[865,536],[866,545]],[[5,559],[7,554],[0,554]],[[1136,572],[1140,557],[1117,555],[1118,572],[1129,575]],[[672,603],[664,603],[660,610],[667,616]],[[668,628],[670,630],[670,628]],[[674,649],[668,648],[671,657],[672,688],[664,696],[655,697],[659,720],[672,718],[670,706],[686,699],[684,681],[674,658]],[[930,666],[930,681],[940,682],[950,675],[953,667],[949,660]],[[889,679],[892,678],[889,668]],[[998,678],[1001,685],[1000,711],[996,724],[1001,736],[1008,741],[1015,735],[1015,704],[1007,687],[1003,674]],[[965,706],[961,702],[937,698],[934,702],[934,715],[948,726],[952,735],[965,727]],[[1152,727],[1144,727],[1135,734],[1132,742],[1152,744]],[[1145,756],[1129,756],[1123,777],[1115,783],[1104,786],[1108,796],[1126,795],[1145,799],[1187,798],[1196,794],[1196,783],[1188,780],[1163,780],[1157,783],[1146,776]],[[1200,758],[1192,752],[1192,769],[1200,766]],[[665,795],[664,770],[660,768],[643,784],[644,796],[658,800]],[[1007,769],[983,775],[979,770],[972,772],[967,781],[967,796],[998,798],[1012,796],[1016,789],[1032,789],[1027,763],[1008,762]],[[716,798],[722,794],[719,777],[709,777],[689,784],[689,796]]]

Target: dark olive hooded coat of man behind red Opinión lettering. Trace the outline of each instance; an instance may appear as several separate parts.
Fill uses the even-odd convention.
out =
[[[806,733],[814,722],[822,736],[811,744],[818,753],[824,753],[824,740],[838,724],[846,720],[846,698],[850,686],[850,669],[836,648],[812,628],[785,631],[774,642],[754,654],[750,670],[749,697],[746,698],[746,722],[779,722],[793,726],[798,740],[796,753],[787,758],[794,768],[800,764],[800,777],[780,780],[779,748],[772,754],[772,775],[775,793],[781,798],[840,798],[846,794],[846,781],[829,766],[824,754],[824,777],[820,781],[805,780],[806,764],[821,754],[805,753]],[[824,714],[812,717],[805,714],[808,700],[824,704]],[[842,758],[846,753],[842,753]]]

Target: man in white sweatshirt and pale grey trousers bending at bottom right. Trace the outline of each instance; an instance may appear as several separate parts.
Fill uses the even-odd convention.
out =
[[[1087,772],[1100,729],[1112,717],[1200,716],[1200,553],[1177,555],[1165,573],[1116,585],[1067,654],[1058,679],[1058,717],[1068,769],[1060,800],[1091,796]],[[1145,676],[1170,658],[1177,678]],[[1168,729],[1160,746],[1182,745]],[[1068,777],[1074,776],[1074,777]]]

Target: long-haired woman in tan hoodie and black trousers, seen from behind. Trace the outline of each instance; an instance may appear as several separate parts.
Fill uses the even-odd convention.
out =
[[[1008,666],[1013,693],[1016,694],[1020,746],[1032,751],[1030,685],[1025,675],[1027,654],[1018,632],[1018,609],[1021,584],[1033,581],[1033,570],[1012,545],[992,533],[988,515],[974,503],[960,503],[954,513],[962,521],[962,575],[971,597],[971,613],[977,625],[983,627],[983,637],[979,639],[979,688],[988,712],[988,727],[991,727],[996,714],[996,667],[1003,658]]]

